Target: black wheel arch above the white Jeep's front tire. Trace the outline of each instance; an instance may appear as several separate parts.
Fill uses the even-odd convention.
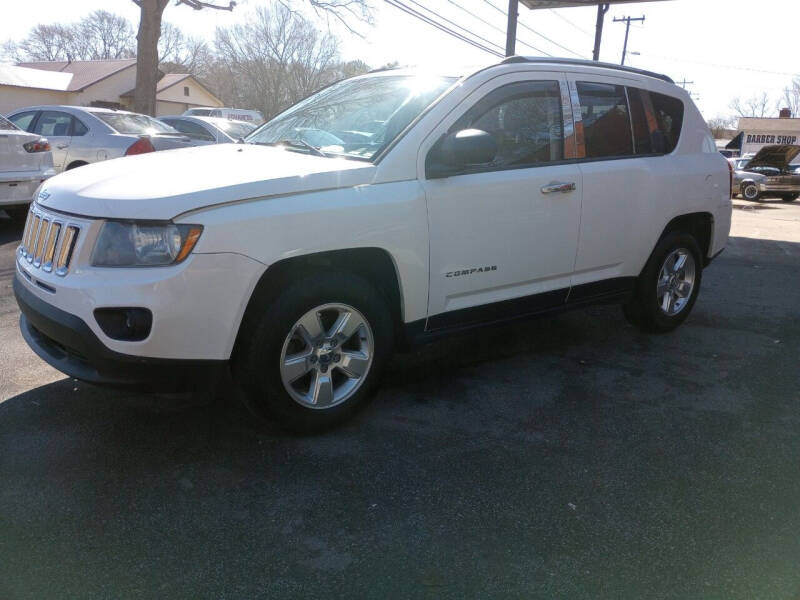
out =
[[[304,254],[271,264],[261,275],[245,307],[233,346],[233,357],[247,331],[254,326],[260,311],[269,306],[286,285],[319,269],[335,269],[359,275],[372,283],[386,298],[392,314],[395,333],[402,328],[404,303],[397,264],[383,248],[348,248]]]

